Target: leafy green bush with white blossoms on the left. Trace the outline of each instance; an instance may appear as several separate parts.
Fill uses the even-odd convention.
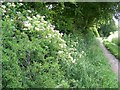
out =
[[[3,88],[69,87],[64,75],[73,58],[62,33],[44,16],[31,17],[24,12],[14,18],[12,11],[3,15]],[[20,21],[15,22],[18,16]]]

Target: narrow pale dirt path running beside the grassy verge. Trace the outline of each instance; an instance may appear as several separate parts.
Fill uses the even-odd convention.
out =
[[[101,38],[97,38],[97,40],[100,42],[100,47],[102,48],[106,58],[108,59],[108,62],[111,66],[111,69],[117,74],[117,76],[120,75],[120,62],[118,59],[115,58],[103,45],[102,41],[100,40]],[[118,75],[119,74],[119,75]],[[120,79],[119,79],[120,80]]]

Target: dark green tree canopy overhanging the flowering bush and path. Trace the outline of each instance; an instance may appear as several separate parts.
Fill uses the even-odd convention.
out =
[[[87,32],[94,25],[100,26],[112,19],[118,10],[116,2],[46,2],[28,3],[61,32],[69,33],[74,30]]]

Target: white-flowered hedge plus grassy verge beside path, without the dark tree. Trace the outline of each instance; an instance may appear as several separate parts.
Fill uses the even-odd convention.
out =
[[[1,6],[3,88],[117,87],[91,34],[63,35],[24,8],[23,3]]]

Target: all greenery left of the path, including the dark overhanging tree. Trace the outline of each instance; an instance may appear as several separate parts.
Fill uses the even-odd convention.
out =
[[[3,88],[117,88],[117,77],[91,31],[103,16],[110,18],[115,5],[4,3]]]

